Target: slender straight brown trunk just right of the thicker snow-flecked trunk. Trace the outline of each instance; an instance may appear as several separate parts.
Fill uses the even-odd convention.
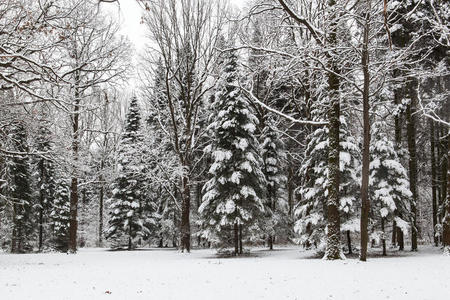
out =
[[[361,173],[361,254],[360,260],[367,260],[367,243],[368,243],[368,224],[369,224],[369,163],[370,163],[370,116],[369,116],[369,14],[366,14],[366,22],[364,26],[364,41],[361,56],[361,65],[364,76],[363,87],[363,153],[362,153],[362,173]]]

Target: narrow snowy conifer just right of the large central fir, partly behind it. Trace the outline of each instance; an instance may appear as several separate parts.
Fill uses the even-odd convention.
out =
[[[277,234],[288,235],[285,230],[288,227],[287,201],[283,188],[286,176],[284,176],[282,169],[286,154],[283,150],[283,142],[272,123],[273,121],[266,120],[261,135],[261,154],[264,162],[262,171],[267,182],[266,207],[271,212],[265,226],[270,250],[273,249]]]

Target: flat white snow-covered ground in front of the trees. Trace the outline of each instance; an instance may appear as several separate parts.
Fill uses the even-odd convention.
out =
[[[450,257],[431,247],[366,263],[322,261],[297,248],[214,253],[0,254],[0,299],[450,299]]]

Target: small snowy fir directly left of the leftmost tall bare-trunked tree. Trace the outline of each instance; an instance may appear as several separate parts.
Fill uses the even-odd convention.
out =
[[[69,193],[69,180],[62,177],[57,179],[49,221],[53,233],[51,246],[61,252],[69,250]]]

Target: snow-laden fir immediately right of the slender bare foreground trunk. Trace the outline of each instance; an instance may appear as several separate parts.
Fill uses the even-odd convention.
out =
[[[411,215],[409,199],[412,197],[407,170],[401,164],[394,142],[389,139],[387,132],[384,121],[372,125],[369,165],[369,195],[372,203],[370,223],[373,229],[369,231],[372,232],[371,239],[381,240],[383,255],[386,255],[386,221],[395,219],[397,226],[407,234],[408,216]]]

